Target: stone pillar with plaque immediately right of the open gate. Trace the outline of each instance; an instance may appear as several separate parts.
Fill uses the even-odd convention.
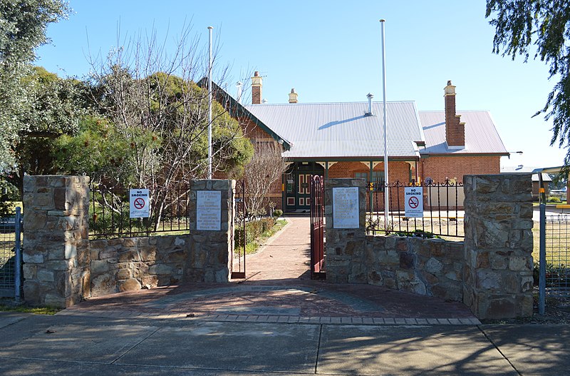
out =
[[[333,189],[358,188],[358,228],[336,228]],[[367,283],[366,256],[366,181],[337,178],[325,181],[326,280],[332,283]]]

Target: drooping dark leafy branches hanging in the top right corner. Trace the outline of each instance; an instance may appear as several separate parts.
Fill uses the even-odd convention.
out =
[[[558,82],[534,116],[552,119],[551,145],[568,148],[570,165],[570,3],[562,0],[487,0],[486,17],[495,26],[494,54],[540,59]],[[532,50],[532,51],[531,51]]]

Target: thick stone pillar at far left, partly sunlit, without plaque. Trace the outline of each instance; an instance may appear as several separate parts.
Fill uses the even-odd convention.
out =
[[[24,176],[24,300],[69,307],[89,296],[88,176]]]

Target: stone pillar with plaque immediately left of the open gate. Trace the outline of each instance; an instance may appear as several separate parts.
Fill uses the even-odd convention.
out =
[[[185,282],[229,282],[234,241],[235,181],[200,180],[190,183],[190,245]],[[219,230],[198,230],[200,190],[221,192]],[[202,213],[204,211],[202,210]]]

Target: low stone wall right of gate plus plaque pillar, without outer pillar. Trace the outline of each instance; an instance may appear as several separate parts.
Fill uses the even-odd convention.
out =
[[[325,187],[328,282],[368,283],[462,300],[463,243],[366,235],[366,182],[328,179]],[[334,228],[332,192],[337,187],[358,187],[358,228]]]

